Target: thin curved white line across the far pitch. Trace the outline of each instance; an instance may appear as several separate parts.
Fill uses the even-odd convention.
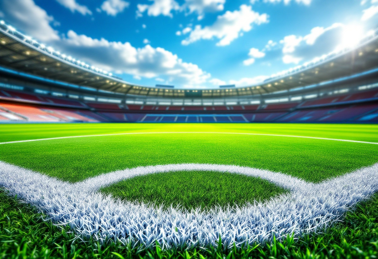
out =
[[[236,135],[255,135],[255,136],[299,137],[299,138],[303,138],[303,139],[335,140],[335,141],[355,142],[355,143],[364,143],[364,144],[375,144],[375,145],[378,145],[378,142],[366,142],[366,141],[349,140],[349,139],[330,139],[330,138],[326,138],[326,137],[308,137],[308,136],[279,135],[279,134],[260,134],[260,133],[239,133],[239,132],[190,132],[190,131],[189,132],[132,132],[132,133],[115,133],[115,134],[98,134],[98,135],[50,137],[50,138],[46,138],[46,139],[28,139],[28,140],[17,140],[17,141],[0,142],[0,145],[2,145],[2,144],[12,144],[12,143],[22,143],[22,142],[32,142],[32,141],[41,141],[41,140],[71,139],[71,138],[76,138],[76,137],[103,137],[103,136],[119,136],[119,135],[137,135],[137,134],[236,134]]]

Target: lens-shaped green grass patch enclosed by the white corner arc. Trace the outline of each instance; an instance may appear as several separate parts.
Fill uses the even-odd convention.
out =
[[[285,190],[261,178],[219,172],[170,172],[136,176],[101,189],[117,198],[167,208],[223,208],[268,200]]]

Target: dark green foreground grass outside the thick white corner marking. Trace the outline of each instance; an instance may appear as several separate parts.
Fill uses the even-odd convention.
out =
[[[69,228],[58,228],[43,221],[26,204],[0,191],[0,258],[376,258],[378,256],[378,195],[347,212],[344,222],[328,228],[325,234],[292,238],[270,245],[250,245],[243,249],[206,247],[206,250],[159,247],[138,248],[93,240],[75,240]]]

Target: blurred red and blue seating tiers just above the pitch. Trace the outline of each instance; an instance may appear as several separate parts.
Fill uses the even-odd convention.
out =
[[[9,89],[0,89],[0,99],[4,100],[0,103],[0,120],[3,122],[378,122],[378,89],[302,102],[232,106],[82,103]],[[191,114],[184,114],[186,111]]]

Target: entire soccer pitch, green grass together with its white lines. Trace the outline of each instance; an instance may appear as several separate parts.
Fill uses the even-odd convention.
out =
[[[312,255],[376,254],[371,240],[335,252],[331,241],[321,250],[309,242],[336,238],[330,233],[345,227],[356,206],[370,202],[370,214],[378,217],[377,125],[13,124],[0,125],[0,132],[2,195],[20,200],[4,198],[3,215],[12,208],[14,217],[43,213],[67,226],[56,240],[90,240],[66,247],[68,257],[101,244],[114,258],[306,257],[304,243]],[[22,255],[28,243],[6,240],[11,222],[0,221],[4,258],[17,249]],[[40,224],[48,223],[25,228],[30,234]],[[52,236],[62,232],[49,229]],[[59,245],[48,242],[40,246],[56,256]],[[42,257],[42,248],[29,243]]]

